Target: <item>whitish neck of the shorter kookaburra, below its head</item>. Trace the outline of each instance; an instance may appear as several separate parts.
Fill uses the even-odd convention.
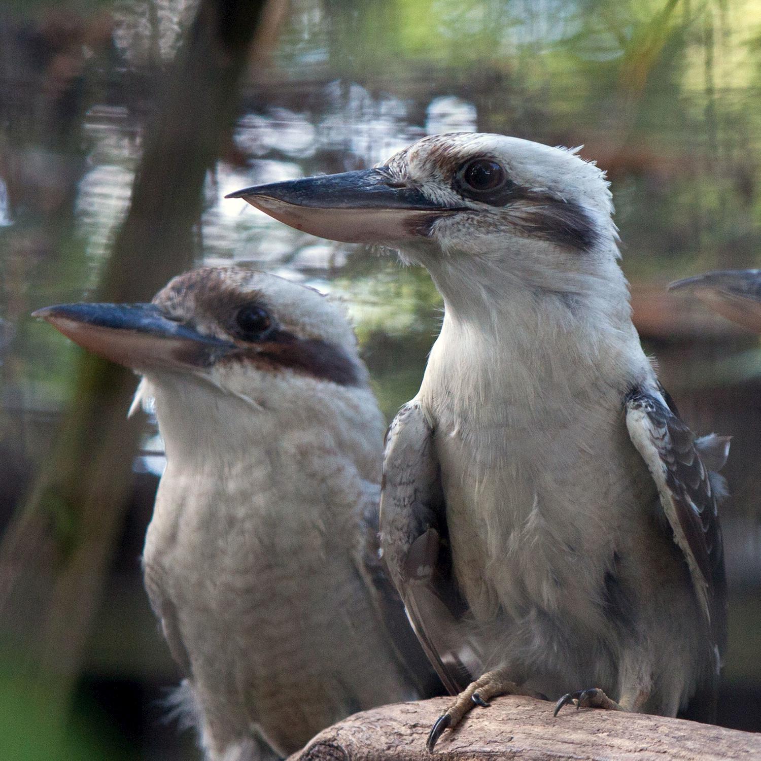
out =
[[[186,376],[146,380],[173,470],[219,476],[258,460],[272,467],[314,451],[345,451],[361,477],[380,477],[384,421],[369,389],[326,394],[311,380],[273,377],[244,395]]]

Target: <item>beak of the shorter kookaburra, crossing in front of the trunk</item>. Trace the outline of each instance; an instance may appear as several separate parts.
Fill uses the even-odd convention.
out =
[[[204,368],[235,345],[168,320],[154,304],[59,304],[38,309],[84,349],[139,371]]]

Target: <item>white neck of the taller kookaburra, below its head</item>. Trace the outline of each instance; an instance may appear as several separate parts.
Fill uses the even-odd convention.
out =
[[[429,267],[445,305],[422,384],[435,409],[458,409],[485,425],[511,411],[524,419],[562,414],[595,395],[613,403],[651,373],[615,262],[559,282],[526,282],[488,261],[477,272],[472,265],[453,259]]]

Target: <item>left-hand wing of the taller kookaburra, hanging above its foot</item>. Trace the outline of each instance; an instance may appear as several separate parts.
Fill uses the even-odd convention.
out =
[[[433,431],[414,401],[400,410],[387,436],[380,544],[428,660],[447,690],[459,693],[481,673],[481,658],[452,573]]]

